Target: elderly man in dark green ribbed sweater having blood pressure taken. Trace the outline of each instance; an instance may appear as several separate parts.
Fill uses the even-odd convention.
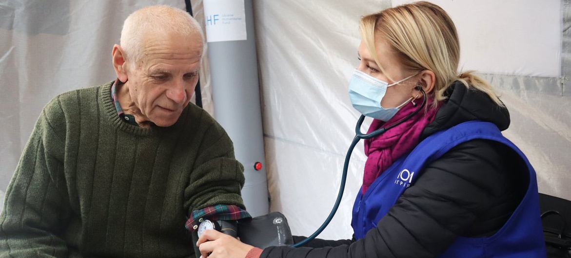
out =
[[[185,226],[250,216],[230,138],[189,104],[202,52],[182,10],[126,19],[117,79],[42,110],[6,193],[0,257],[186,257]]]

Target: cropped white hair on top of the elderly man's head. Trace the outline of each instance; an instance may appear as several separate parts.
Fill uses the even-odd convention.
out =
[[[126,61],[137,64],[148,38],[168,34],[183,38],[198,37],[200,42],[204,42],[200,24],[190,14],[174,7],[156,5],[136,10],[125,19],[119,44]]]

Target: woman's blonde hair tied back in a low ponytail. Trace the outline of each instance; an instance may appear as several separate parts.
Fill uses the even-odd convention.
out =
[[[375,48],[377,33],[399,52],[400,62],[406,68],[435,73],[434,107],[446,99],[444,92],[454,81],[485,92],[496,104],[504,107],[492,85],[475,75],[474,71],[457,73],[460,60],[458,34],[452,19],[440,6],[422,1],[385,9],[362,17],[359,31],[383,73]]]

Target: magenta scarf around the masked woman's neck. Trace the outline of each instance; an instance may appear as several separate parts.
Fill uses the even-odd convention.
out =
[[[363,188],[361,193],[365,194],[369,186],[377,179],[383,171],[388,169],[393,162],[399,159],[403,154],[408,153],[419,144],[420,134],[424,128],[430,124],[435,116],[437,108],[432,108],[432,100],[429,99],[426,112],[420,110],[419,113],[411,117],[403,124],[397,125],[395,128],[387,130],[384,134],[372,139],[365,140],[365,173],[363,175]],[[418,105],[420,103],[417,102]],[[439,105],[440,107],[440,105]],[[408,103],[402,107],[399,112],[386,122],[391,125],[404,117],[408,116],[417,109],[412,103]],[[381,120],[373,120],[369,127],[368,133],[385,125]]]

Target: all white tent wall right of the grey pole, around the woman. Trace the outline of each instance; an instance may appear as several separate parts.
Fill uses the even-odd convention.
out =
[[[293,234],[311,234],[335,202],[359,115],[347,95],[359,18],[404,2],[254,2],[270,209],[287,216]],[[460,68],[497,87],[512,118],[504,134],[528,155],[540,191],[571,199],[569,1],[431,2],[456,23]],[[361,142],[341,207],[320,237],[351,238],[364,161]]]

